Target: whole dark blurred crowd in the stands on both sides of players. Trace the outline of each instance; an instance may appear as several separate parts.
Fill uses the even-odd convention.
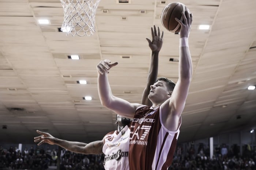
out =
[[[9,149],[0,146],[0,169],[46,170],[57,166],[57,151],[31,147],[22,152],[17,147]],[[60,170],[104,170],[104,155],[76,154],[65,149],[60,152]],[[233,145],[229,149],[225,144],[214,148],[210,158],[210,148],[200,144],[195,150],[193,144],[187,149],[177,146],[172,166],[168,170],[255,170],[256,147]]]

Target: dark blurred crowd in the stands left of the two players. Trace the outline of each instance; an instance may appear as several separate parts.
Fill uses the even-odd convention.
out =
[[[46,170],[49,166],[57,166],[57,151],[49,147],[25,148],[20,151],[17,147],[9,149],[0,146],[0,169],[33,169]],[[60,170],[104,170],[104,155],[83,155],[67,150],[61,150]]]

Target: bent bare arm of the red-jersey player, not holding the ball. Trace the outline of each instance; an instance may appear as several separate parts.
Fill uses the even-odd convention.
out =
[[[109,85],[109,81],[108,81],[109,69],[116,65],[117,65],[117,62],[112,64],[110,63],[110,60],[101,61],[97,65],[99,98],[101,100],[101,104],[106,108],[116,112],[118,115],[128,117],[128,118],[133,118],[135,109],[140,104],[132,104],[126,100],[115,97],[112,94],[112,91]]]

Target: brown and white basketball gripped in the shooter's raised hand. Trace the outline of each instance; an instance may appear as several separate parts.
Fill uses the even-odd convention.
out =
[[[175,20],[178,18],[181,22],[184,22],[184,19],[181,15],[181,12],[185,13],[187,7],[179,2],[174,2],[168,4],[162,11],[161,21],[163,26],[170,32],[180,32],[180,24]],[[188,10],[189,12],[189,10]],[[190,12],[189,12],[190,13]]]

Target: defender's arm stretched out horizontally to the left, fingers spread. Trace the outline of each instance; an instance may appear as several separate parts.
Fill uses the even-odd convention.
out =
[[[103,154],[103,140],[98,140],[90,143],[82,143],[82,142],[71,142],[67,140],[62,140],[58,138],[54,138],[52,135],[46,132],[41,132],[37,130],[38,134],[41,136],[37,136],[34,138],[34,142],[39,142],[37,145],[41,145],[43,143],[55,144],[64,149],[67,149],[71,152],[76,152],[79,154]]]

